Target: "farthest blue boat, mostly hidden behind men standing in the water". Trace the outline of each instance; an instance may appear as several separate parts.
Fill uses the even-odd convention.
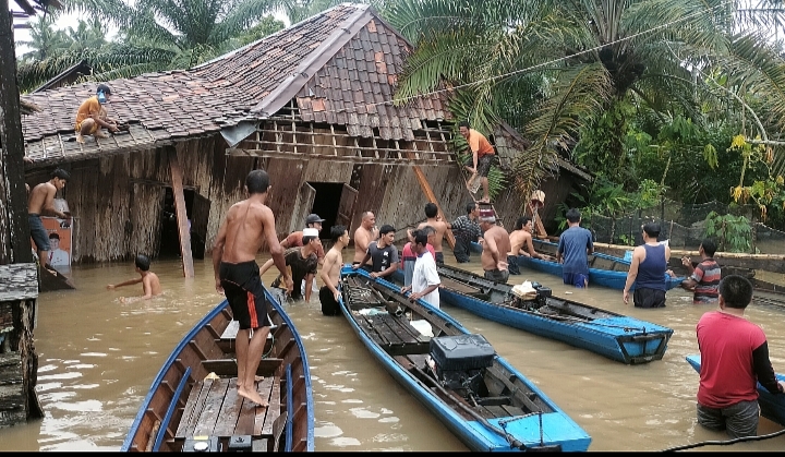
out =
[[[534,250],[541,254],[551,257],[556,256],[558,244],[550,241],[534,240]],[[547,273],[561,277],[561,264],[550,260],[532,258],[526,255],[516,257],[518,265],[531,268],[538,272]],[[595,252],[588,256],[589,260],[589,285],[608,287],[611,289],[624,290],[627,281],[627,272],[629,272],[630,261],[623,257],[614,257],[613,255]],[[665,287],[667,290],[681,285],[684,277],[671,277],[665,275]],[[632,286],[635,289],[635,286]]]

